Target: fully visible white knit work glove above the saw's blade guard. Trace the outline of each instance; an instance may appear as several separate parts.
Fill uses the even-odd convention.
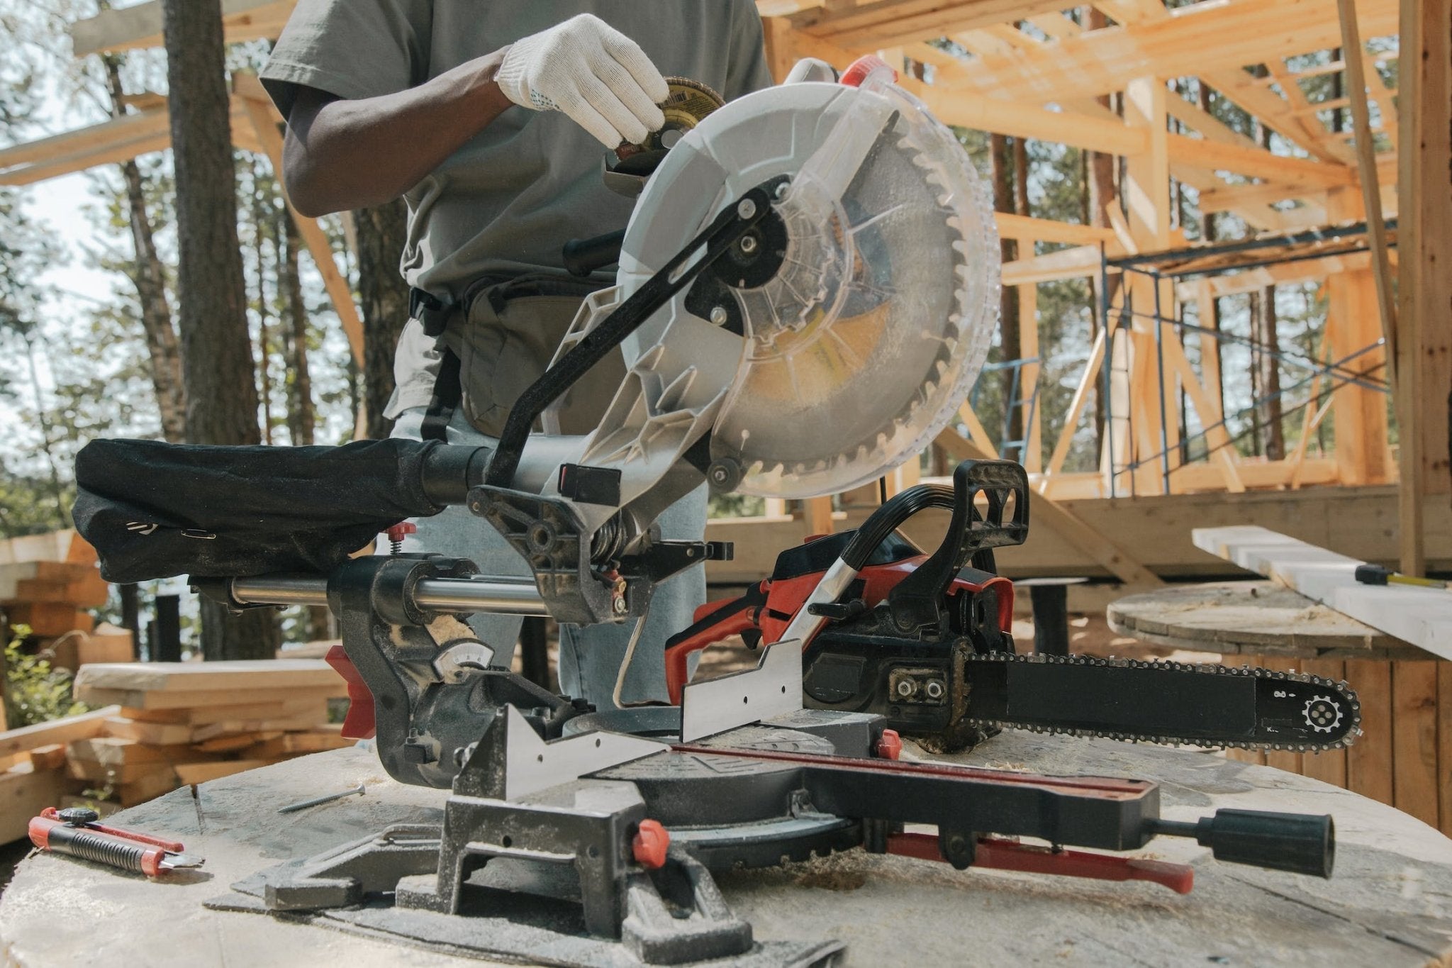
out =
[[[565,112],[607,148],[659,131],[656,104],[671,93],[635,41],[588,13],[515,41],[495,80],[515,104]]]

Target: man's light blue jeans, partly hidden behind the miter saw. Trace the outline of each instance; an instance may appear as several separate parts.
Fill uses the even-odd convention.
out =
[[[420,438],[424,408],[404,411],[393,424],[393,437]],[[454,411],[449,424],[449,443],[494,447],[495,438],[485,437]],[[706,536],[707,489],[700,486],[661,515],[661,537],[680,541],[700,541]],[[407,551],[436,551],[450,557],[465,557],[479,566],[484,575],[523,575],[530,569],[524,559],[508,546],[494,525],[469,514],[468,508],[447,508],[431,518],[418,518],[418,533],[405,541]],[[665,640],[694,621],[696,608],[706,601],[706,565],[693,565],[662,582],[650,598],[640,641],[626,673],[620,698],[624,702],[648,700],[668,701],[665,691]],[[469,625],[479,639],[494,649],[495,665],[508,665],[520,637],[518,615],[472,615]],[[559,630],[559,688],[571,697],[584,697],[601,710],[616,708],[611,692],[624,660],[626,644],[636,623],[619,625],[560,625]]]

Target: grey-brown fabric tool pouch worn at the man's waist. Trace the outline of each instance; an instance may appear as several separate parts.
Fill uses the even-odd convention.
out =
[[[459,357],[465,415],[479,432],[502,432],[514,401],[549,369],[581,302],[600,287],[598,282],[558,276],[470,287],[466,312],[450,319],[443,343]],[[592,431],[623,379],[619,353],[592,367],[566,390],[560,431]]]

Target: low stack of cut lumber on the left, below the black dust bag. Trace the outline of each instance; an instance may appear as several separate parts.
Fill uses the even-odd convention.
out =
[[[0,843],[42,807],[131,807],[293,756],[348,746],[328,723],[347,685],[315,659],[81,666],[76,698],[103,707],[0,733]]]

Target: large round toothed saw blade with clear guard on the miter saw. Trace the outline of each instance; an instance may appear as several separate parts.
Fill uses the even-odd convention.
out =
[[[742,277],[723,257],[707,270],[716,302],[694,315],[741,332],[711,459],[735,464],[736,491],[807,498],[897,467],[954,418],[993,338],[1000,261],[987,193],[921,103],[892,84],[804,83],[726,104],[671,152],[632,222],[650,231],[626,238],[626,290],[781,176],[780,266]]]

